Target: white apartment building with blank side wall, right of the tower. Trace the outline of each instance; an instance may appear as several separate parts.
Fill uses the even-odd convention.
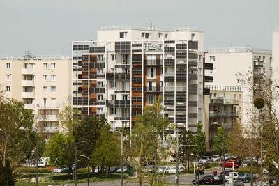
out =
[[[252,47],[211,48],[205,54],[205,61],[211,61],[214,64],[214,69],[206,72],[206,75],[214,77],[214,83],[209,83],[209,85],[241,86],[241,91],[243,92],[241,109],[243,111],[241,111],[241,115],[239,113],[236,114],[241,118],[244,127],[249,130],[249,126],[252,124],[250,123],[249,114],[251,111],[255,111],[252,105],[254,95],[253,91],[249,91],[246,86],[239,84],[239,77],[236,77],[236,74],[241,73],[244,75],[249,70],[250,75],[253,77],[252,83],[257,89],[254,91],[260,91],[262,86],[259,84],[258,78],[263,73],[266,75],[271,75],[272,73],[271,50]],[[238,94],[236,93],[236,98],[240,100]],[[230,99],[232,98],[234,97],[230,97]]]

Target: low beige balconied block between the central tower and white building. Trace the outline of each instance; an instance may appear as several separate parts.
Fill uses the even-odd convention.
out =
[[[213,123],[223,123],[226,129],[232,128],[237,122],[242,123],[243,94],[240,86],[207,85],[205,88],[210,90],[204,103],[209,108],[205,116],[206,148],[213,152],[213,140],[219,127]]]

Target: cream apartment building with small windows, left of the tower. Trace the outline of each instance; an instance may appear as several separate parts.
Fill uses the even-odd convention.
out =
[[[6,99],[23,101],[25,109],[35,114],[34,123],[49,139],[58,131],[56,115],[71,93],[71,60],[61,56],[3,56],[0,69]]]

